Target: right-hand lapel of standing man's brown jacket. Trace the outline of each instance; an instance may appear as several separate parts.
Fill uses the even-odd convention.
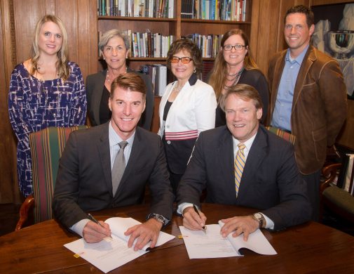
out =
[[[294,108],[297,105],[297,101],[301,96],[301,92],[306,81],[306,75],[308,74],[308,70],[310,70],[310,67],[312,66],[315,59],[315,52],[313,51],[313,48],[309,46],[308,51],[305,54],[304,60],[301,64],[299,74],[297,75],[297,83],[295,84],[294,98],[292,100],[292,112],[294,112]]]

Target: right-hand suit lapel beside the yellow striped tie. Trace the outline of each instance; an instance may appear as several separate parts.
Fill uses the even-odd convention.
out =
[[[246,159],[245,167],[243,169],[243,174],[240,182],[240,188],[238,190],[238,200],[243,200],[243,197],[247,197],[247,191],[250,189],[250,184],[256,183],[256,171],[259,169],[259,165],[266,156],[266,135],[264,133],[264,128],[259,126],[257,135],[254,138],[250,152]]]

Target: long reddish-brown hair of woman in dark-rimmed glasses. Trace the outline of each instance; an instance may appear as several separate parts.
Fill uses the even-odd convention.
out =
[[[212,68],[212,72],[210,74],[210,79],[208,81],[209,82],[208,84],[210,84],[210,86],[213,87],[218,100],[219,100],[220,96],[222,95],[222,89],[224,88],[224,83],[226,81],[226,73],[227,73],[227,63],[224,59],[222,51],[223,51],[225,41],[233,35],[240,35],[240,37],[245,42],[245,46],[247,49],[245,59],[243,60],[243,66],[245,67],[245,69],[246,70],[255,70],[255,69],[259,70],[256,62],[254,61],[254,59],[252,57],[252,53],[251,53],[251,49],[250,49],[250,41],[249,41],[247,35],[245,34],[245,32],[243,32],[243,30],[239,30],[239,29],[233,29],[233,30],[227,31],[223,35],[222,41],[220,42],[219,53],[217,53],[217,57],[215,58],[214,67]]]

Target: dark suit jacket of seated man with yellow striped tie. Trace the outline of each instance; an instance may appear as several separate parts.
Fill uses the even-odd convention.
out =
[[[260,209],[280,230],[310,220],[306,183],[300,178],[292,144],[259,126],[236,198],[233,139],[226,126],[200,133],[177,191],[177,204],[205,202]],[[220,218],[223,218],[222,212]]]

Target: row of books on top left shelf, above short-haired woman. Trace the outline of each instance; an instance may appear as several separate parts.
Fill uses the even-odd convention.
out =
[[[175,0],[97,0],[97,15],[174,18]]]

